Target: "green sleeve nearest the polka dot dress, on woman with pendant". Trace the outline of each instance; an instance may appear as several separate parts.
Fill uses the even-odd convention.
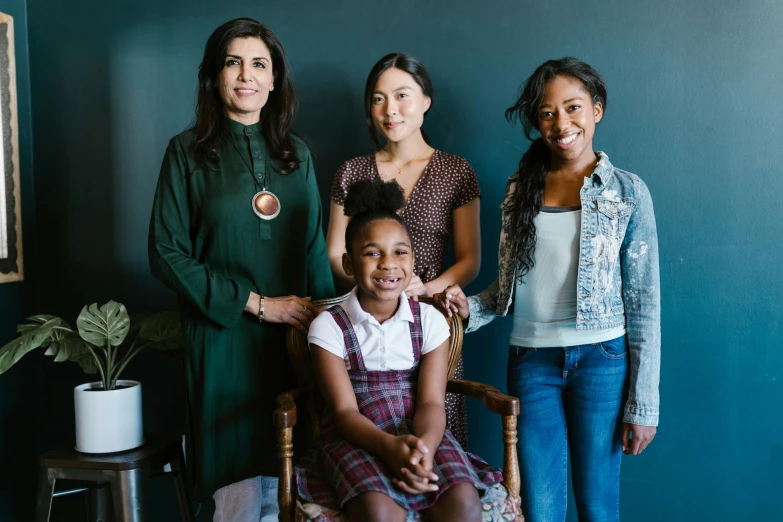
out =
[[[310,202],[310,220],[307,224],[307,290],[313,299],[334,297],[334,280],[329,256],[326,252],[326,241],[323,234],[323,209],[318,183],[315,179],[313,161],[308,151],[306,154],[305,180],[307,195]]]

